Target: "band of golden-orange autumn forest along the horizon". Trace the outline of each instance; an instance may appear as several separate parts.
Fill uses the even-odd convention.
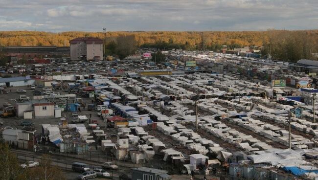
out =
[[[318,30],[268,30],[268,31],[118,31],[118,32],[38,32],[38,31],[2,31],[0,46],[68,46],[69,40],[77,37],[98,37],[106,41],[106,52],[121,52],[125,48],[117,42],[126,42],[136,47],[156,47],[161,50],[181,48],[186,50],[208,49],[219,51],[223,45],[228,48],[244,46],[262,46],[262,54],[271,53],[274,59],[295,61],[297,58],[311,58],[318,52]],[[133,42],[132,38],[133,37]],[[129,47],[130,49],[134,49]]]

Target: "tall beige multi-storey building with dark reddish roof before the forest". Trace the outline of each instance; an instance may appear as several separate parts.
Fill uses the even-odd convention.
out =
[[[70,59],[101,60],[103,58],[103,40],[98,38],[75,38],[69,41]]]

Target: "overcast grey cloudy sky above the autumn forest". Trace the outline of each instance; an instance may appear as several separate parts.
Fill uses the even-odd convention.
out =
[[[0,0],[0,31],[318,29],[318,0]]]

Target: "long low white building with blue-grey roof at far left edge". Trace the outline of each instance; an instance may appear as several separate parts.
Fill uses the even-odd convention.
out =
[[[6,87],[34,85],[34,82],[35,82],[34,79],[30,79],[27,77],[0,78],[0,86],[6,86]]]

